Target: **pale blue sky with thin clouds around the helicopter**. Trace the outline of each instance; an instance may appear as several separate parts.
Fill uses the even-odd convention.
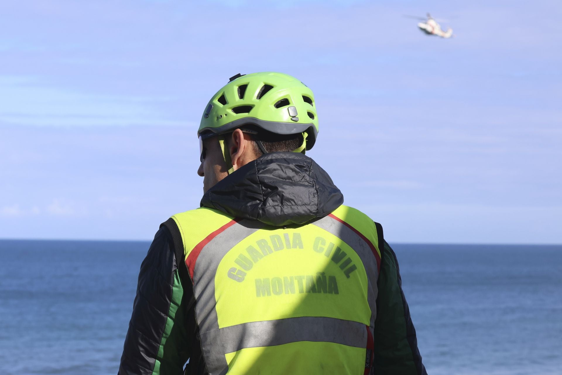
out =
[[[402,15],[448,19],[427,37]],[[198,207],[236,73],[315,92],[309,153],[389,242],[562,243],[556,1],[0,4],[0,238],[149,240]]]

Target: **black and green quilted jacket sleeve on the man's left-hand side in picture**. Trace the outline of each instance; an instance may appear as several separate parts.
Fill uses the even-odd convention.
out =
[[[163,225],[140,266],[120,375],[183,373],[190,356],[184,327],[184,282],[170,231]]]

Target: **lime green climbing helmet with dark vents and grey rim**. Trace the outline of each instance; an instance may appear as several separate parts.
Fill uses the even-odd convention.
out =
[[[306,150],[310,150],[318,135],[314,94],[287,74],[237,74],[212,97],[197,135],[224,134],[247,125],[275,134],[306,132]]]

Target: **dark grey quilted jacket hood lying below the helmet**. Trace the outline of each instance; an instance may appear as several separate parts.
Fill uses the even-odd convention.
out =
[[[220,180],[201,199],[202,207],[276,226],[303,224],[342,204],[328,173],[296,152],[267,153]]]

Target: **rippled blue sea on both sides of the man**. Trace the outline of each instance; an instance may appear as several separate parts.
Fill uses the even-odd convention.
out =
[[[562,374],[562,245],[391,245],[428,374]],[[0,374],[116,374],[148,246],[0,240]]]

